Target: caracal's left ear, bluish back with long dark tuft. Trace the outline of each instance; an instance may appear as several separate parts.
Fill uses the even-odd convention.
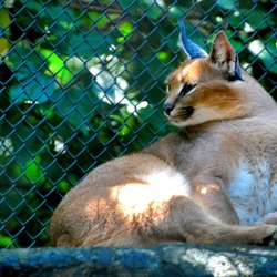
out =
[[[178,21],[181,28],[179,40],[182,48],[187,57],[187,59],[204,58],[208,54],[197,44],[195,44],[186,34],[186,28],[183,20]]]

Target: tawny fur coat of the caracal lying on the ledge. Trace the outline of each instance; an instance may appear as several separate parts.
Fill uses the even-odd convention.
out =
[[[167,78],[183,131],[92,171],[58,206],[53,246],[276,240],[277,106],[246,72],[227,80],[234,55],[220,32]],[[197,85],[181,96],[185,83]]]

